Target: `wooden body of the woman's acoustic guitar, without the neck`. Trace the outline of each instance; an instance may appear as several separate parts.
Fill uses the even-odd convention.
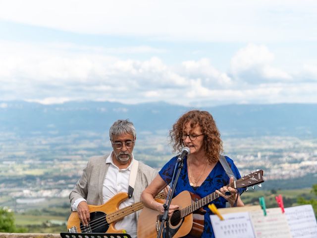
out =
[[[204,231],[204,215],[202,213],[191,213],[183,218],[181,217],[181,209],[192,204],[196,196],[189,191],[182,191],[172,199],[171,204],[178,205],[179,210],[175,210],[169,219],[168,237],[179,238],[188,234],[192,237],[201,236]],[[138,238],[157,238],[160,225],[159,212],[144,207],[138,221]]]

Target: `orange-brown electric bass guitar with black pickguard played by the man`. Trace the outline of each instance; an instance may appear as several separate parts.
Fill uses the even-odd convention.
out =
[[[159,193],[155,199],[164,198],[164,193]],[[72,212],[67,221],[67,230],[69,233],[123,233],[122,230],[114,228],[115,222],[123,219],[144,206],[142,202],[134,203],[130,206],[119,209],[122,201],[128,198],[126,192],[119,192],[110,198],[103,205],[88,205],[90,212],[90,222],[84,226],[79,219],[77,212]]]

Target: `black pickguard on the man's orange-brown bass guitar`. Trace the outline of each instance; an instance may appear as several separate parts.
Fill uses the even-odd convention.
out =
[[[90,213],[89,226],[84,227],[83,224],[80,222],[80,228],[82,233],[106,233],[109,228],[109,224],[106,221],[106,213]]]

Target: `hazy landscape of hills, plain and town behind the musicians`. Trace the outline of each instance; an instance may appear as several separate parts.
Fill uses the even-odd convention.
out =
[[[165,103],[124,105],[77,102],[41,105],[0,102],[0,207],[12,211],[24,232],[66,231],[68,195],[88,158],[111,151],[108,128],[130,119],[137,129],[134,156],[159,170],[175,155],[168,130],[192,108]],[[245,204],[264,196],[276,207],[316,199],[317,128],[315,104],[227,105],[211,112],[221,132],[224,155],[241,175],[264,170],[261,188],[242,194]]]

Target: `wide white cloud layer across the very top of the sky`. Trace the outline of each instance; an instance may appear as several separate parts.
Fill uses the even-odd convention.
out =
[[[0,18],[63,31],[194,41],[316,40],[314,0],[10,0]],[[294,32],[298,34],[294,35]]]

